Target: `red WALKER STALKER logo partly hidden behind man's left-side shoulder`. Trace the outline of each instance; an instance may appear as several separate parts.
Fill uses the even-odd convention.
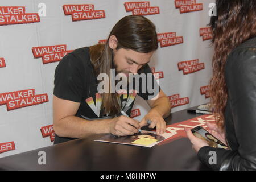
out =
[[[43,64],[53,63],[63,59],[72,50],[67,51],[67,45],[33,47],[32,52],[35,58],[43,57]]]

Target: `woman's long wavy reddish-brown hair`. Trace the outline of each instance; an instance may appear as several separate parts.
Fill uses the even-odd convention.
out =
[[[224,77],[226,59],[234,48],[256,36],[256,1],[216,0],[216,7],[217,16],[210,20],[214,46],[210,97],[217,124],[223,127],[228,98]]]

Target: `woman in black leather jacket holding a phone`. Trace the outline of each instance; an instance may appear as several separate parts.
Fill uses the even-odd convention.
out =
[[[209,147],[186,129],[197,156],[215,170],[256,170],[256,1],[217,0],[212,17],[211,103],[217,125],[210,133],[230,150]],[[211,160],[216,152],[216,161]]]

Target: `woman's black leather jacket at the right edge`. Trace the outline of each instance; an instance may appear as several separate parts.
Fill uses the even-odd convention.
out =
[[[197,156],[215,170],[256,170],[256,38],[229,54],[225,81],[228,89],[225,133],[231,150],[207,146]],[[216,164],[209,164],[209,151],[216,151]]]

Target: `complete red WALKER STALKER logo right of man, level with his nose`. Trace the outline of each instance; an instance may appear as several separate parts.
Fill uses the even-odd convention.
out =
[[[182,61],[178,64],[179,71],[183,70],[183,75],[187,75],[189,73],[194,73],[204,69],[204,63],[199,63],[199,59],[190,60],[190,61]]]

